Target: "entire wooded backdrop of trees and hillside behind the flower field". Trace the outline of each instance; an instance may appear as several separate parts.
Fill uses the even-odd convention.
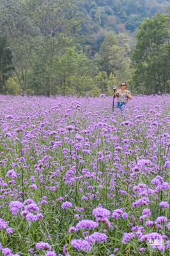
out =
[[[134,93],[169,92],[168,1],[0,0],[0,6],[1,93],[111,95],[121,81]]]

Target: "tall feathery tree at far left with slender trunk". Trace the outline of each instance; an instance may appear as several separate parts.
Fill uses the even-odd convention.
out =
[[[13,52],[15,78],[22,88],[22,95],[27,90],[27,73],[29,70],[30,36],[35,33],[31,17],[26,9],[26,1],[1,0],[1,30],[10,43]]]

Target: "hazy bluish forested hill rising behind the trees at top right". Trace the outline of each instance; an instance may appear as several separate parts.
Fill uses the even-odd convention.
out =
[[[146,17],[164,12],[167,0],[76,0],[84,23],[81,35],[98,51],[107,31],[133,34]],[[94,53],[93,52],[93,53]]]

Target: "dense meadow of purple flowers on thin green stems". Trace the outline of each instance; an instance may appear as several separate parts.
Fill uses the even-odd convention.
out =
[[[170,95],[0,106],[0,255],[169,255]]]

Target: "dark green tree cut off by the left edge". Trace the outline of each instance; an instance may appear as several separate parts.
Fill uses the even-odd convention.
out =
[[[6,80],[12,76],[12,50],[5,36],[0,36],[0,92],[5,92]]]

